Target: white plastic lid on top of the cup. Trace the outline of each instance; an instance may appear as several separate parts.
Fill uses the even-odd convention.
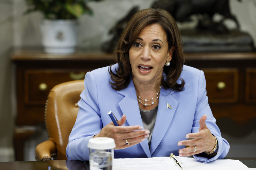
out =
[[[109,137],[91,138],[87,145],[91,149],[114,149],[116,147],[115,140]]]

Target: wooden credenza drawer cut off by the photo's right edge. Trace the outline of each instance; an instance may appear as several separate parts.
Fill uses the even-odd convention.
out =
[[[246,70],[246,93],[245,100],[249,103],[256,103],[256,68]]]

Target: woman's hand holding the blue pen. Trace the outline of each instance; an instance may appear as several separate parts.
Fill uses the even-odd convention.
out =
[[[94,137],[110,137],[115,140],[115,149],[125,149],[127,147],[136,145],[149,137],[149,130],[142,130],[140,125],[134,126],[121,126],[125,123],[126,116],[123,115],[120,120],[117,121],[119,126],[115,126],[113,122],[103,127],[97,135]],[[129,144],[126,144],[126,139]]]

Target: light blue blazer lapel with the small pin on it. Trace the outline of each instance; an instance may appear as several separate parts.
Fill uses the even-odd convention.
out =
[[[173,115],[177,109],[178,101],[172,96],[175,91],[170,91],[166,89],[161,89],[159,96],[159,104],[157,110],[156,123],[152,134],[150,153],[153,154],[161,140],[163,139],[165,133],[168,129]],[[167,108],[167,103],[170,104],[171,108]]]

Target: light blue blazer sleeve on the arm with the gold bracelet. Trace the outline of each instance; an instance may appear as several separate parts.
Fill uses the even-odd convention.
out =
[[[195,116],[194,116],[194,121],[193,121],[193,127],[191,132],[195,133],[199,131],[199,120],[200,118],[209,113],[211,113],[210,106],[208,104],[208,97],[206,96],[206,81],[205,81],[205,76],[203,71],[200,71],[199,75],[199,81],[198,81],[198,97],[197,97],[197,105],[196,105],[196,111],[195,111]],[[216,125],[216,120],[213,117],[212,113],[207,114],[207,119],[205,121],[206,126],[210,129],[212,134],[217,138],[218,144],[219,144],[219,149],[217,154],[212,157],[212,158],[205,158],[205,157],[200,157],[197,155],[194,155],[195,159],[198,159],[200,161],[203,161],[204,163],[216,160],[216,159],[223,159],[228,151],[229,151],[229,143],[221,137],[220,129]]]

